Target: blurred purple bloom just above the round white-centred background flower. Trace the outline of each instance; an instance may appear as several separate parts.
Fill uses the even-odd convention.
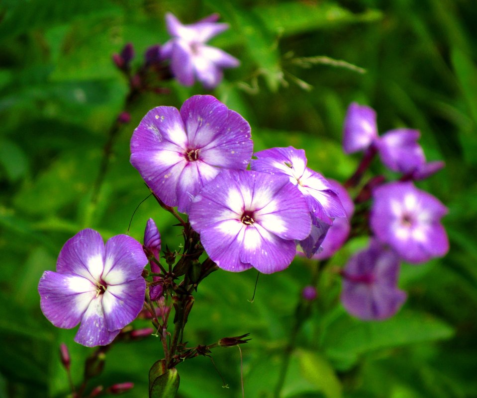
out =
[[[395,129],[384,133],[376,146],[382,163],[392,171],[408,173],[421,167],[426,159],[417,143],[419,131]]]

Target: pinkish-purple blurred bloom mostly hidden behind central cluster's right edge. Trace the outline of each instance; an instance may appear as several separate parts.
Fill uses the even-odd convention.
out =
[[[353,199],[351,199],[351,196],[345,187],[343,187],[338,181],[332,179],[328,179],[328,182],[338,194],[341,204],[345,209],[346,217],[339,217],[333,220],[333,225],[330,227],[325,239],[321,243],[323,250],[317,252],[313,256],[313,258],[318,258],[320,260],[331,257],[346,242],[351,231],[350,220],[355,211]]]

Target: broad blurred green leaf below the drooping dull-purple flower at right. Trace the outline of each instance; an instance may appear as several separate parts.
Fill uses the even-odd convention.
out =
[[[427,314],[402,311],[384,321],[361,321],[343,315],[326,330],[321,343],[340,370],[352,367],[365,353],[424,341],[448,339],[454,330]]]

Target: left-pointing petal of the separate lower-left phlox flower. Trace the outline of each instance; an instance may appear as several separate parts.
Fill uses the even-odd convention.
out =
[[[40,308],[57,327],[75,327],[96,296],[96,286],[87,278],[45,271],[38,284]]]

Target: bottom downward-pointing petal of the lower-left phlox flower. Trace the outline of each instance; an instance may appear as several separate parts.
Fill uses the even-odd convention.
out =
[[[75,341],[87,347],[107,345],[120,330],[109,331],[106,328],[106,319],[101,305],[101,296],[93,299],[83,315],[80,328],[75,336]]]

